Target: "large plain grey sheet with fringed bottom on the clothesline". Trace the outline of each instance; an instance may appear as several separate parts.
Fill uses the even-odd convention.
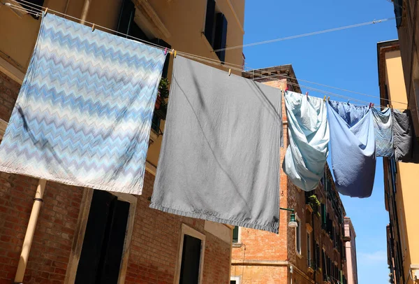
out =
[[[278,232],[281,92],[174,61],[151,208]]]

